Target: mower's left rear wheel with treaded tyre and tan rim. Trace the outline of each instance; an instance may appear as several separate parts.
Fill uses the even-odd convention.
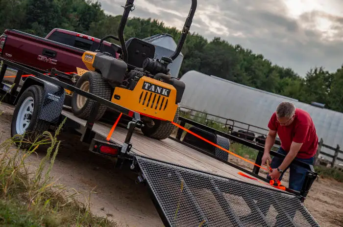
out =
[[[98,72],[85,72],[77,81],[76,87],[98,95],[104,99],[110,100],[112,89],[110,85],[102,78]],[[72,111],[73,114],[82,119],[88,119],[95,106],[95,100],[88,99],[82,95],[73,92],[72,95]],[[106,111],[106,106],[100,105],[96,121],[98,121]]]

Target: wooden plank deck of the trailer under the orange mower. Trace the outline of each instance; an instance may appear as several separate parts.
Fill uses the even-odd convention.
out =
[[[71,113],[69,110],[63,110],[62,114],[77,122],[81,126],[86,125],[86,120],[74,116],[73,113]],[[99,136],[103,136],[104,138],[106,138],[111,127],[112,125],[103,122],[96,122],[93,126],[93,131],[96,132]],[[126,133],[127,129],[117,126],[111,137],[111,141],[122,144],[125,140]],[[221,162],[220,160],[214,159],[201,152],[198,152],[170,138],[164,140],[152,139],[144,136],[139,129],[136,129],[134,134],[132,135],[131,143],[131,151],[140,156],[166,161],[172,164],[205,171],[230,179],[249,182],[262,187],[276,189],[270,185],[266,185],[261,182],[257,182],[241,176],[238,174],[238,172],[241,172],[239,169],[236,169],[228,164]]]

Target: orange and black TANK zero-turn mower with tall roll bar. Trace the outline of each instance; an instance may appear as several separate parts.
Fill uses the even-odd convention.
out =
[[[91,92],[113,103],[141,114],[142,132],[149,137],[165,139],[172,133],[172,121],[178,118],[178,103],[185,90],[184,82],[171,77],[168,65],[179,55],[192,24],[196,0],[186,19],[182,34],[172,56],[154,59],[155,46],[138,38],[125,42],[123,30],[132,11],[134,0],[127,0],[119,26],[119,38],[108,35],[100,40],[96,51],[86,51],[82,61],[89,69],[78,78],[76,87]],[[116,46],[120,57],[101,51],[104,40],[113,38],[121,43]],[[115,44],[113,44],[115,45]],[[73,114],[87,119],[95,101],[77,93],[72,94]],[[106,111],[100,106],[96,120]],[[112,110],[109,110],[112,111]]]

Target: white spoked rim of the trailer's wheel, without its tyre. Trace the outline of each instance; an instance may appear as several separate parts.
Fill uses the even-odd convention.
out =
[[[16,121],[17,134],[23,135],[30,124],[34,109],[33,97],[27,97],[22,103]]]

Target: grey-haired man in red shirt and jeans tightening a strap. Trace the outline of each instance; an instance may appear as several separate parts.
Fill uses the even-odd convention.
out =
[[[303,167],[290,165],[294,159],[313,164],[318,147],[318,136],[310,114],[295,108],[293,103],[282,102],[276,112],[272,114],[268,123],[269,133],[266,138],[262,164],[270,160],[272,172],[267,179],[281,181],[285,171],[290,168],[289,188],[300,191],[307,170]],[[278,153],[285,155],[285,159],[270,158],[270,149],[275,142],[276,134],[281,140]]]

